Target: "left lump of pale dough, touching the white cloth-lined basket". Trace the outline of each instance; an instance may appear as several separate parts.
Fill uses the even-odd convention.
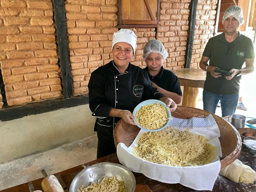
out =
[[[220,175],[230,179],[231,181],[238,183],[240,175],[242,173],[243,163],[236,159],[233,163],[220,170]]]

